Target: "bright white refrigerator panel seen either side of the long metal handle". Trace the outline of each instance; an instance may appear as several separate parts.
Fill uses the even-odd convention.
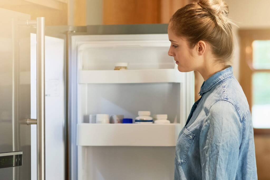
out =
[[[45,36],[46,179],[65,179],[64,40]],[[36,34],[31,34],[31,118],[36,118]],[[31,179],[37,179],[36,125],[31,125]]]

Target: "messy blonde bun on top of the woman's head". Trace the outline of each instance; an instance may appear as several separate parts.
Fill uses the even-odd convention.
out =
[[[222,29],[230,23],[234,24],[228,18],[229,7],[224,0],[200,0],[198,4],[215,17],[217,24]]]

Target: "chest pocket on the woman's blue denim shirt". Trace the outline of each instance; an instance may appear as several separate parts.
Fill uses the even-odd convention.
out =
[[[176,143],[176,160],[178,165],[183,165],[187,161],[187,153],[194,136],[195,135],[189,132],[187,128],[184,128],[182,133],[179,135]]]

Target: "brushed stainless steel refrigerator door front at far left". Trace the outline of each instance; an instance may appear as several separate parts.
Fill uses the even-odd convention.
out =
[[[31,131],[18,120],[30,117],[30,15],[0,8],[0,153],[23,152],[23,164],[0,169],[0,179],[29,179]]]

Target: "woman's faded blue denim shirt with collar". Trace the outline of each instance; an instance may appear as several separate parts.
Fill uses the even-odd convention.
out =
[[[257,179],[247,98],[228,67],[207,79],[176,144],[174,179]]]

